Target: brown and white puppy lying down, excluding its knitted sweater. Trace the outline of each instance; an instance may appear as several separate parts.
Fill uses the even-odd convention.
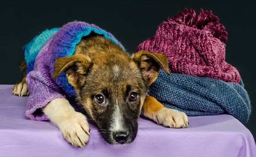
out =
[[[26,69],[25,64],[22,67]],[[55,61],[53,79],[64,71],[76,90],[78,104],[97,124],[103,139],[109,144],[127,144],[137,135],[140,115],[167,127],[188,126],[185,113],[147,96],[160,68],[169,74],[167,58],[162,54],[141,51],[130,57],[111,40],[90,35],[76,45],[73,56]],[[25,77],[13,87],[13,93],[28,94]],[[76,112],[65,99],[52,100],[43,111],[69,143],[85,146],[90,127],[84,114]]]

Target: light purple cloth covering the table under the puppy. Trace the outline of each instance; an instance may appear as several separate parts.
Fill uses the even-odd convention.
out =
[[[189,117],[189,127],[171,129],[140,118],[132,144],[106,144],[90,125],[85,148],[68,144],[50,122],[28,120],[27,97],[12,95],[13,85],[0,85],[0,157],[256,157],[251,132],[230,115]]]

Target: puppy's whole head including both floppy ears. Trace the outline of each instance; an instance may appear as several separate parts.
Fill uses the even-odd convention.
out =
[[[65,71],[68,82],[76,89],[77,100],[106,142],[126,144],[137,135],[147,88],[157,78],[160,67],[169,72],[166,57],[149,52],[93,60],[77,55],[57,59],[54,77]]]

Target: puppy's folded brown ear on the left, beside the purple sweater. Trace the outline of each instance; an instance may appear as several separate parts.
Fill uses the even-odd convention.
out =
[[[79,88],[85,82],[85,76],[91,65],[90,58],[84,55],[58,58],[54,62],[52,79],[56,79],[59,74],[65,71],[68,83],[79,91]]]

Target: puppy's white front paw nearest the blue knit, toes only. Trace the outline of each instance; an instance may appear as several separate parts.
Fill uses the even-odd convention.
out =
[[[157,124],[166,127],[185,128],[189,126],[188,116],[185,113],[166,107],[160,109],[153,119]]]

